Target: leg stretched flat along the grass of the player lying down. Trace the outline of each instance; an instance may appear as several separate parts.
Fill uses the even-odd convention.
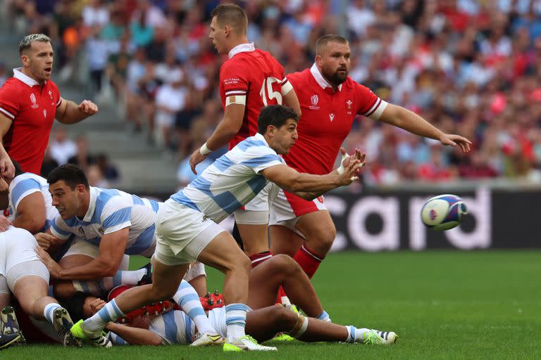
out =
[[[354,328],[305,318],[280,305],[250,311],[246,319],[246,332],[262,342],[270,340],[276,333],[290,333],[304,342],[361,342],[391,345],[397,340],[393,332],[382,332],[368,328]]]

